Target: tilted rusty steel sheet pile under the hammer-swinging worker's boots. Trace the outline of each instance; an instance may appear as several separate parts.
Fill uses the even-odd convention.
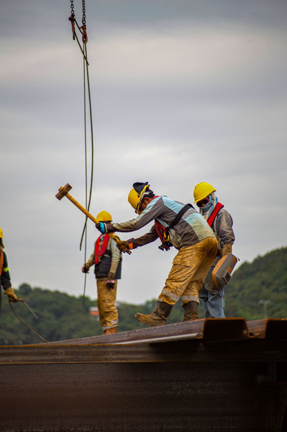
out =
[[[207,318],[195,321],[168,324],[160,327],[131,330],[113,335],[92,336],[89,338],[61,340],[41,343],[43,345],[82,345],[137,343],[144,341],[167,342],[177,339],[195,339],[203,342],[220,342],[248,339],[248,327],[244,318]]]

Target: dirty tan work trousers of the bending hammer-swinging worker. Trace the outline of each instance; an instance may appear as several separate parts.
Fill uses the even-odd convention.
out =
[[[195,245],[180,249],[157,301],[174,305],[182,298],[183,304],[191,301],[199,303],[198,292],[216,253],[215,237],[207,237]]]

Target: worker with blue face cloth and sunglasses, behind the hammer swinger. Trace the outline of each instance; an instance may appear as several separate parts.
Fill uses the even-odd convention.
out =
[[[204,313],[206,318],[225,318],[224,315],[224,288],[216,289],[212,280],[212,270],[224,255],[232,253],[232,245],[235,235],[232,229],[233,220],[223,204],[218,202],[214,195],[213,186],[209,183],[199,183],[195,186],[194,204],[200,208],[200,214],[206,219],[218,240],[221,252],[214,259],[204,284],[199,291],[199,297],[203,299]]]

